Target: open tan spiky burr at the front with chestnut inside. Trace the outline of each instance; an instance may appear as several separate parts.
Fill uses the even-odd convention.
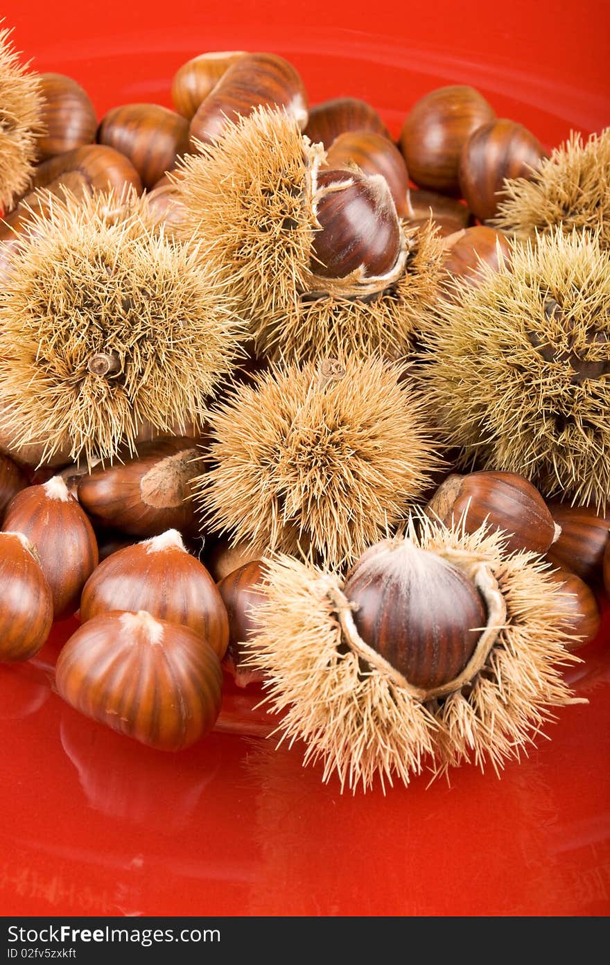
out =
[[[259,629],[246,648],[248,665],[267,676],[269,708],[281,714],[276,733],[303,739],[305,762],[321,759],[324,780],[336,774],[354,791],[376,780],[407,785],[427,765],[434,775],[467,762],[497,772],[518,760],[555,707],[577,703],[561,676],[575,659],[561,585],[547,570],[533,553],[507,554],[499,533],[413,518],[406,537],[372,547],[345,581],[287,556],[267,560]],[[418,571],[427,577],[419,586]],[[392,663],[394,645],[408,648],[422,614],[424,626],[440,620],[439,573],[470,585],[484,622],[471,624],[475,643],[453,679],[413,685]],[[354,602],[358,581],[376,586],[376,597]],[[363,636],[375,599],[381,636],[372,645]],[[428,638],[430,652],[442,651],[446,632]]]

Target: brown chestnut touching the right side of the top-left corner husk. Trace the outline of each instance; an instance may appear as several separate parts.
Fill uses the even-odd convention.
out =
[[[90,96],[63,73],[41,74],[42,128],[38,159],[73,151],[96,140],[97,114]]]

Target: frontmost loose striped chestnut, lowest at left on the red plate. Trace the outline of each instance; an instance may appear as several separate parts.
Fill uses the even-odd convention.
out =
[[[221,703],[220,661],[194,630],[149,613],[105,613],[84,623],[55,669],[65,701],[113,731],[161,751],[208,733]]]

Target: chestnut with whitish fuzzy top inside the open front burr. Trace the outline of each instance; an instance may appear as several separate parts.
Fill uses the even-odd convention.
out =
[[[455,679],[487,621],[474,584],[456,567],[408,540],[368,550],[343,590],[369,647],[416,687]]]

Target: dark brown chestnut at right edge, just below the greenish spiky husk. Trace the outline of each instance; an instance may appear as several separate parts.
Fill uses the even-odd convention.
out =
[[[610,541],[610,512],[598,513],[593,507],[549,503],[555,522],[561,526],[561,536],[547,554],[553,565],[593,585],[602,577],[603,556]]]

